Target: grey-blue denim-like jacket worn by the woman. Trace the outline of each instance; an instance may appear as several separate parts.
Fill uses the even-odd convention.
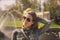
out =
[[[50,22],[44,20],[44,19],[38,19],[39,21],[43,22],[45,25],[41,29],[33,30],[33,29],[25,29],[23,28],[25,34],[28,36],[29,40],[38,40],[38,37],[46,32],[48,30],[49,25],[51,24]],[[26,37],[23,35],[21,32],[22,28],[16,29],[13,32],[12,40],[27,40]]]

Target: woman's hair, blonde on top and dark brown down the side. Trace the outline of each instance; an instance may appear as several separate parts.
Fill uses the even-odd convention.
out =
[[[27,8],[26,10],[24,10],[23,13],[24,14],[29,14],[29,15],[32,16],[32,19],[33,19],[33,22],[34,22],[34,24],[32,24],[32,26],[33,26],[32,28],[33,29],[38,29],[37,15],[36,15],[35,11],[32,10],[31,8]]]

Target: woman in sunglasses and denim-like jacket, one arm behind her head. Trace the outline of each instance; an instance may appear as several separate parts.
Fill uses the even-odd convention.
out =
[[[23,27],[13,32],[12,40],[38,40],[39,35],[47,31],[50,22],[37,17],[35,11],[31,9],[26,9],[23,13]],[[38,29],[39,21],[45,24],[41,29]]]

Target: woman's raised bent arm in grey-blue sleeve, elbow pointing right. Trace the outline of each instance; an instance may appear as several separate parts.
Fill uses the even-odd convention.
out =
[[[43,32],[46,32],[51,24],[51,21],[50,20],[47,20],[47,19],[43,19],[43,18],[40,18],[38,17],[38,22],[42,22],[44,24],[44,26],[40,29],[40,34],[43,33]]]

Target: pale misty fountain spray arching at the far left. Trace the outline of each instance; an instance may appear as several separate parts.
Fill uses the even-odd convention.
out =
[[[11,18],[11,19],[10,19]],[[7,21],[14,21],[14,25],[6,25]],[[13,27],[11,27],[13,26]],[[15,18],[14,15],[11,12],[7,12],[2,14],[2,16],[0,17],[0,31],[7,36],[8,38],[11,39],[11,34],[13,29],[16,28],[16,22],[15,22]]]

